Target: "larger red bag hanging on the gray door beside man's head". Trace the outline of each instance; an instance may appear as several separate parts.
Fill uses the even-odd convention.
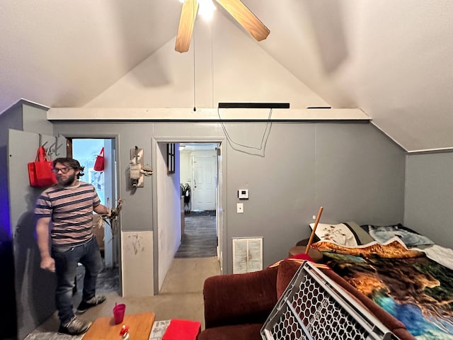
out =
[[[28,163],[30,186],[42,188],[57,183],[52,167],[52,161],[47,158],[44,147],[39,147],[35,162]]]

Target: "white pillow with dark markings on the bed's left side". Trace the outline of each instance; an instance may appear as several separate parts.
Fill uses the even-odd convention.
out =
[[[313,229],[314,223],[310,223],[310,227]],[[333,242],[340,246],[358,246],[374,242],[374,239],[355,222],[338,223],[338,225],[318,223],[315,235],[320,241]]]

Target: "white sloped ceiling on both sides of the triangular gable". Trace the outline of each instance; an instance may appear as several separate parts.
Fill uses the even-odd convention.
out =
[[[453,147],[451,0],[243,2],[271,32],[251,43],[333,108],[362,108],[409,152]],[[2,0],[0,112],[20,98],[86,106],[174,40],[180,7],[178,0]]]

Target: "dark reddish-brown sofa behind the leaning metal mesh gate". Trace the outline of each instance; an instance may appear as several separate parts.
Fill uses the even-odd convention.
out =
[[[260,329],[284,293],[301,261],[285,259],[278,266],[245,274],[212,276],[205,280],[205,330],[198,340],[260,340]],[[347,290],[401,340],[415,340],[392,317],[330,269],[321,269]]]

